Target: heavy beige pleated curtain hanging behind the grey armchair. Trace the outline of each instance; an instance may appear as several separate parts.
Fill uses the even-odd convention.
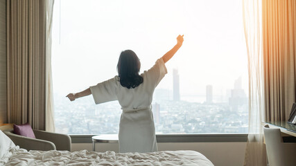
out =
[[[45,129],[44,1],[7,0],[8,122]]]

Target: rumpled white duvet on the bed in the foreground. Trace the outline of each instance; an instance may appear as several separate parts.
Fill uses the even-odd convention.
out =
[[[12,147],[0,158],[0,165],[213,165],[196,151],[157,151],[152,153],[105,153],[94,151],[26,151]]]

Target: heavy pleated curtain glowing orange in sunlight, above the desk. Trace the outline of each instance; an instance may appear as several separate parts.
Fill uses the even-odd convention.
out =
[[[287,121],[296,96],[296,1],[262,5],[265,120]]]

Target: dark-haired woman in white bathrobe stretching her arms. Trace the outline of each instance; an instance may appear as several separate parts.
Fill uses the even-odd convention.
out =
[[[177,37],[177,44],[155,65],[139,75],[141,63],[132,50],[124,50],[117,64],[119,75],[79,93],[69,93],[73,101],[92,94],[96,104],[118,100],[121,104],[119,124],[119,152],[157,151],[155,126],[151,102],[155,87],[166,75],[165,63],[182,46],[184,35]]]

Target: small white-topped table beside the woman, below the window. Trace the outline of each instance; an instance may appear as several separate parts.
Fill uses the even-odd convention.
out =
[[[117,134],[101,134],[98,136],[92,136],[92,150],[93,151],[96,151],[96,142],[118,143],[119,136]]]

